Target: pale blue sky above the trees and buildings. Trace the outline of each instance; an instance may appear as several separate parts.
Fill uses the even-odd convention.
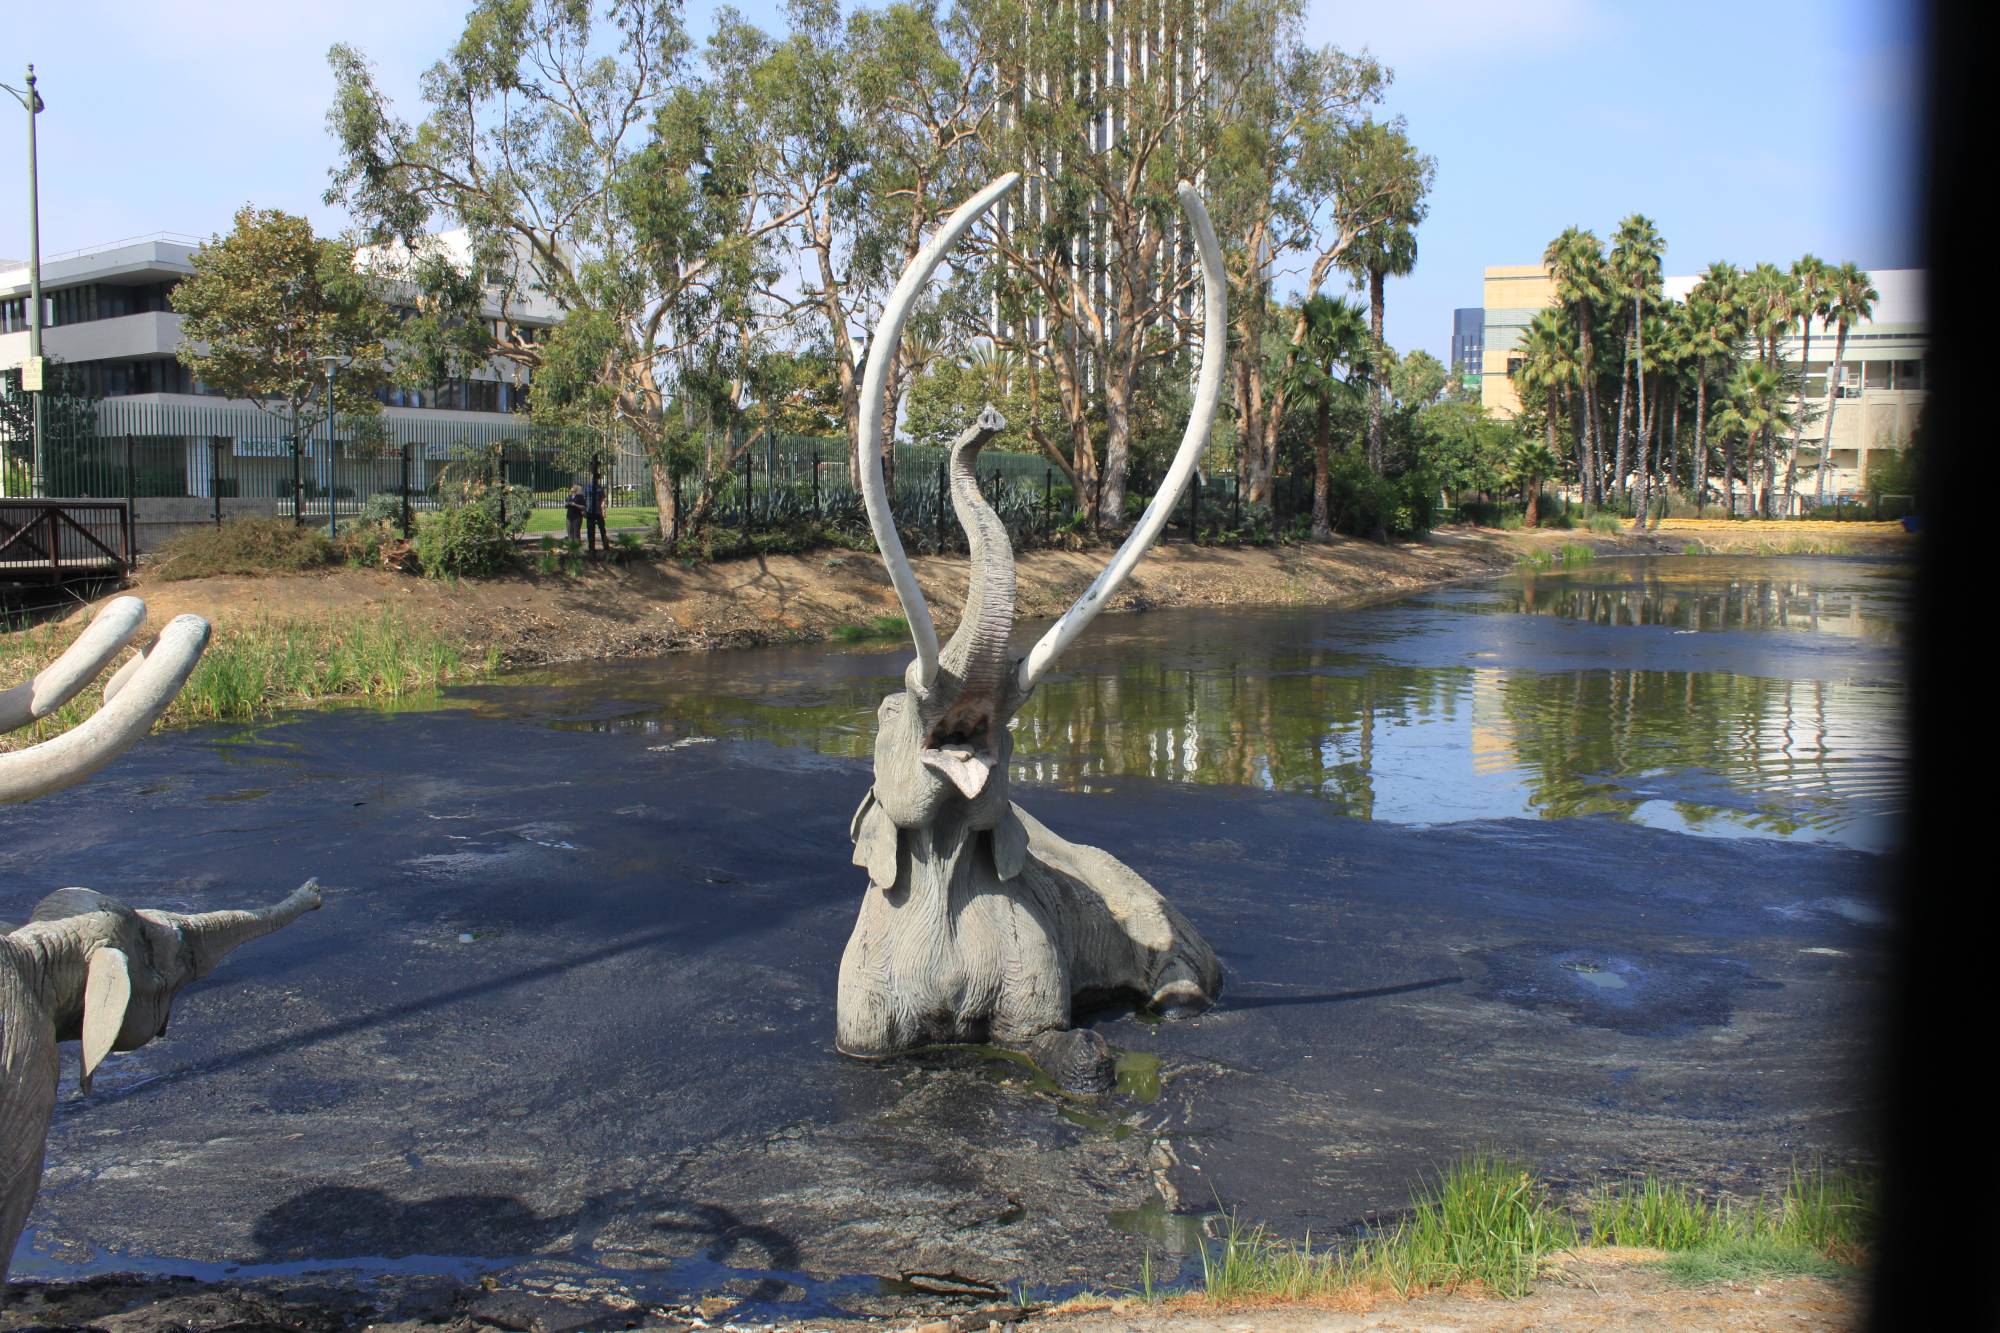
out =
[[[206,236],[244,202],[312,216],[332,144],[326,48],[352,42],[398,104],[456,36],[456,0],[70,0],[4,24],[0,80],[34,60],[44,256],[120,236]],[[778,4],[738,8],[776,26]],[[690,26],[714,4],[694,0]],[[1318,0],[1314,40],[1396,70],[1384,110],[1438,160],[1388,338],[1444,356],[1452,308],[1486,264],[1532,262],[1576,222],[1632,210],[1668,272],[1810,250],[1866,268],[1918,262],[1920,6],[1904,0]],[[0,256],[28,252],[24,116],[0,100]]]

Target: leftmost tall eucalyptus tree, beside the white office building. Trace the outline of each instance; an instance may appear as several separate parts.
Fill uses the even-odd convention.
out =
[[[680,6],[478,0],[424,74],[418,124],[394,114],[360,50],[334,46],[328,62],[326,200],[416,256],[436,222],[464,226],[474,280],[454,262],[412,266],[420,318],[454,330],[458,354],[532,374],[536,420],[630,430],[672,530],[686,422],[668,404],[748,342],[770,238],[790,222],[752,188],[752,126],[690,72]],[[498,290],[498,328],[482,288]],[[566,316],[546,338],[512,322],[530,300]]]

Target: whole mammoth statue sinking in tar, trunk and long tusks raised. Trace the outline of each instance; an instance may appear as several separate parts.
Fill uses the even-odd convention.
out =
[[[884,494],[882,382],[930,272],[1018,180],[1002,176],[966,200],[912,260],[882,312],[862,378],[862,492],[916,660],[876,713],[874,785],[850,831],[868,891],[840,959],[836,1045],[846,1055],[888,1057],[992,1041],[1026,1049],[1066,1087],[1102,1091],[1110,1055],[1096,1033],[1070,1029],[1074,1007],[1128,999],[1164,1015],[1200,1013],[1222,991],[1222,969],[1186,917],[1132,869],[1056,837],[1012,803],[1008,727],[1160,534],[1200,458],[1222,386],[1226,288],[1208,210],[1182,184],[1204,288],[1194,412],[1138,526],[1022,658],[1010,652],[1014,550],[974,472],[980,446],[1006,422],[988,406],[952,444],[952,508],[972,570],[964,616],[940,648]]]

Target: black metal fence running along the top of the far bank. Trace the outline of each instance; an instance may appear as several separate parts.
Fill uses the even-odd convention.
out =
[[[366,514],[408,530],[416,514],[450,502],[466,482],[504,482],[508,502],[560,510],[570,486],[596,470],[610,508],[626,510],[612,514],[614,526],[656,522],[652,462],[634,438],[616,432],[384,414],[336,422],[330,434],[322,426],[294,442],[280,418],[248,406],[110,400],[48,430],[38,490],[126,500],[150,522],[264,514],[326,524]],[[700,462],[670,480],[682,514],[706,498],[708,522],[728,528],[866,526],[844,438],[758,432],[744,446],[742,436],[712,432],[694,452]],[[10,490],[28,480],[28,462],[26,440],[0,442]],[[950,514],[946,462],[944,448],[892,450],[890,504],[920,548],[962,544]],[[1016,540],[1076,524],[1074,494],[1046,458],[988,452],[978,472]],[[1132,492],[1150,494],[1146,480],[1144,470],[1134,470]],[[1234,490],[1226,472],[1198,478],[1174,524],[1240,526]],[[534,522],[534,530],[556,526]]]

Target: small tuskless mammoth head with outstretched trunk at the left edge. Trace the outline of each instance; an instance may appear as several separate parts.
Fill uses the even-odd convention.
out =
[[[94,889],[58,889],[10,939],[50,959],[56,1039],[80,1039],[82,1087],[112,1051],[136,1051],[166,1031],[174,997],[252,939],[320,905],[306,881],[260,911],[168,913],[132,909]]]

